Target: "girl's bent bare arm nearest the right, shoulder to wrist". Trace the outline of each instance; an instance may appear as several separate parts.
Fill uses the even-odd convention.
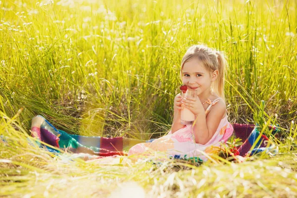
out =
[[[224,101],[220,100],[216,105],[211,107],[207,116],[205,112],[201,112],[197,115],[193,129],[197,144],[205,145],[212,138],[225,112],[226,104]]]

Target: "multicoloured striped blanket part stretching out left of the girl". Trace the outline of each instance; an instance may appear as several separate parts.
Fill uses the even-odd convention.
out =
[[[103,138],[99,136],[80,136],[68,134],[65,131],[56,129],[43,116],[36,116],[32,119],[32,136],[42,142],[59,148],[60,150],[73,153],[88,153],[97,156],[127,155],[124,150],[146,141],[131,138]],[[49,151],[59,152],[58,149],[45,146]]]

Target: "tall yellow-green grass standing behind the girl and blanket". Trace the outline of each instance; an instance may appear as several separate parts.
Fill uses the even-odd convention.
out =
[[[180,62],[198,43],[228,57],[231,122],[296,118],[296,1],[1,1],[4,109],[83,134],[141,138],[172,122]]]

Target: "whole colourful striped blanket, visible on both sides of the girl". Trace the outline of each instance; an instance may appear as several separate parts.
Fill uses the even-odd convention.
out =
[[[261,135],[254,125],[233,124],[235,136],[244,142],[239,148],[233,149],[235,155],[246,156],[247,153],[254,154],[264,151],[269,139]],[[115,155],[127,155],[129,148],[139,143],[151,142],[152,140],[137,140],[124,137],[104,138],[99,136],[80,136],[68,134],[65,131],[56,129],[43,116],[38,115],[32,119],[32,136],[45,144],[40,147],[47,148],[51,152],[59,150],[76,153],[78,157],[85,160],[102,158]],[[50,148],[50,145],[54,148]],[[253,146],[254,145],[254,146]],[[250,150],[250,148],[253,148]]]

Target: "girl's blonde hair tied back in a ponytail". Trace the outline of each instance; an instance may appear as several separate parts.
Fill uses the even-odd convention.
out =
[[[184,64],[193,58],[196,58],[203,66],[209,71],[213,72],[218,70],[218,77],[212,83],[211,89],[224,99],[224,69],[227,65],[227,61],[222,52],[215,49],[210,49],[203,45],[191,46],[185,53],[181,63],[181,77]]]

